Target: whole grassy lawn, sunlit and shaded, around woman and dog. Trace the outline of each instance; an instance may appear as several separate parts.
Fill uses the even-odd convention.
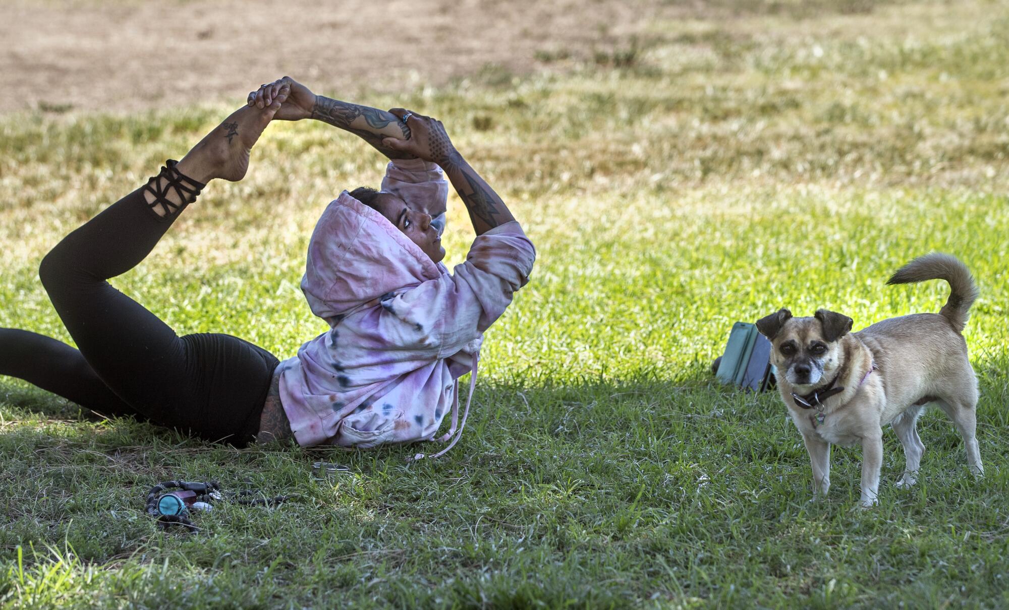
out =
[[[441,118],[538,249],[446,457],[236,451],[0,378],[4,607],[1009,605],[1009,7],[734,4],[588,57],[545,49],[542,74],[355,96]],[[41,257],[231,106],[0,117],[0,326],[69,341]],[[181,334],[289,357],[325,330],[298,288],[312,227],[383,166],[326,125],[275,124],[245,180],[212,185],[114,283]],[[457,263],[472,233],[449,205]],[[859,448],[835,448],[810,503],[778,395],[719,387],[710,362],[734,322],[780,307],[857,329],[937,312],[944,282],[884,285],[930,250],[981,288],[986,476],[932,409],[917,487],[894,487],[888,430],[878,507],[855,509]],[[320,460],[349,474],[313,482]],[[221,504],[190,535],[142,512],[173,478],[299,497]]]

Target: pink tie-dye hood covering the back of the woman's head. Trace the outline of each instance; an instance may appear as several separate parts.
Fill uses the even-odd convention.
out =
[[[302,291],[332,327],[370,300],[440,275],[417,244],[344,191],[312,232]]]

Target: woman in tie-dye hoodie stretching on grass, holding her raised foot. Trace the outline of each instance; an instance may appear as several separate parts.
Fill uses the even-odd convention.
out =
[[[245,175],[271,120],[307,118],[351,131],[390,159],[382,191],[343,192],[312,235],[302,289],[328,332],[278,362],[229,335],[179,337],[109,285],[150,253],[208,182]],[[440,263],[443,170],[477,235],[452,274]],[[315,96],[285,78],[249,94],[247,106],[181,161],[167,161],[44,257],[39,277],[80,351],[0,329],[0,374],[99,412],[237,446],[430,440],[451,408],[447,441],[458,415],[455,380],[472,369],[475,381],[481,334],[525,285],[534,258],[519,223],[441,122]]]

